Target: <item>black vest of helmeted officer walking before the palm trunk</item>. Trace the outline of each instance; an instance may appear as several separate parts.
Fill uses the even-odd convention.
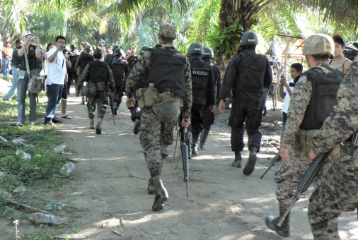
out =
[[[240,53],[238,76],[234,92],[263,92],[267,59],[265,55]]]

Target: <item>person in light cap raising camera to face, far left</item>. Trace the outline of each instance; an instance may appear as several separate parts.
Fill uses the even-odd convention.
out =
[[[26,61],[28,61],[28,68],[30,70],[30,74],[33,76],[39,76],[36,68],[35,61],[36,59],[41,57],[39,42],[40,39],[38,37],[33,37],[30,31],[23,32],[23,47],[18,49],[18,56],[21,57],[21,64],[19,64],[19,73],[18,73],[18,83],[16,85],[18,90],[18,122],[17,126],[21,126],[25,123],[25,100],[26,100],[26,92],[28,91],[28,72],[26,68]],[[35,42],[35,45],[31,44],[31,40]],[[36,97],[37,93],[28,93],[30,97],[30,124],[35,124],[37,119],[36,114]]]

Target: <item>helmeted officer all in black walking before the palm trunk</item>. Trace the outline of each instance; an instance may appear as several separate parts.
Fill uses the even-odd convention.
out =
[[[272,72],[266,56],[256,54],[258,37],[254,32],[245,32],[241,37],[241,52],[234,56],[221,83],[219,111],[225,112],[225,99],[233,88],[233,104],[229,126],[231,126],[231,150],[235,152],[233,167],[241,167],[243,122],[246,121],[248,149],[250,155],[243,174],[250,175],[255,169],[256,152],[260,151],[262,133],[259,131],[264,86],[271,85]]]

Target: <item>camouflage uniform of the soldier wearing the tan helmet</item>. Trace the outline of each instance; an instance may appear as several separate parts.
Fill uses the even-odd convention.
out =
[[[317,64],[315,67],[329,66],[326,63]],[[332,68],[331,66],[329,66]],[[316,71],[319,69],[316,68]],[[329,73],[328,69],[321,67],[321,71]],[[309,167],[308,155],[300,157],[291,150],[294,145],[294,136],[301,122],[304,119],[306,108],[311,100],[312,85],[306,76],[301,76],[296,83],[294,92],[291,95],[290,107],[288,110],[287,123],[284,126],[284,137],[282,138],[281,147],[288,148],[289,162],[282,161],[279,169],[275,172],[275,181],[277,182],[276,197],[279,201],[279,211],[285,212],[292,201],[293,190],[299,185],[299,181],[304,176],[306,169]]]

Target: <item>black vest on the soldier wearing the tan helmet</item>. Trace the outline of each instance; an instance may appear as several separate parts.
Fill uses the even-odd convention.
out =
[[[302,74],[312,84],[311,100],[306,107],[304,120],[300,126],[304,130],[321,128],[323,121],[330,116],[333,107],[337,105],[337,92],[343,80],[342,73],[335,69],[330,68],[330,73],[316,69],[322,68],[311,68]]]

